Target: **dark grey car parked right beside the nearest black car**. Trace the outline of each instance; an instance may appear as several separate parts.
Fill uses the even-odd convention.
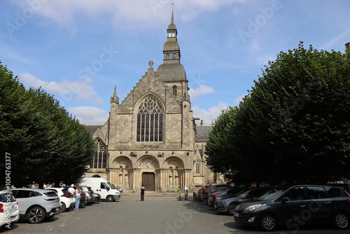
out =
[[[246,200],[251,200],[253,198],[258,198],[260,195],[266,193],[269,191],[271,187],[251,187],[251,188],[245,188],[244,190],[240,191],[235,195],[235,197],[232,198],[225,198],[222,196],[221,198],[218,197],[214,204],[214,210],[216,212],[225,212],[230,215],[233,215],[235,212],[235,207]]]

